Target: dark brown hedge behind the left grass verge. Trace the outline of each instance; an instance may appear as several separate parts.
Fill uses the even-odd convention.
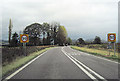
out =
[[[27,46],[26,55],[33,52],[40,51],[50,46]],[[10,63],[16,59],[16,57],[25,56],[22,47],[4,47],[2,48],[2,64]]]

